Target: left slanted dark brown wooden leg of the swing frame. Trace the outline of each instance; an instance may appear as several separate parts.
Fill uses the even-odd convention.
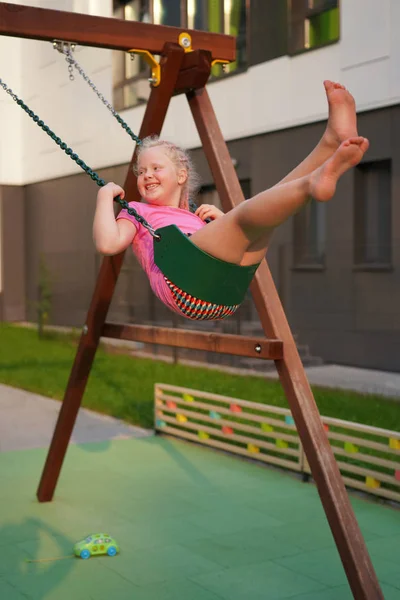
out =
[[[161,83],[158,87],[152,89],[139,132],[139,137],[141,139],[147,135],[159,134],[161,132],[167,109],[174,93],[183,56],[184,51],[180,46],[166,44],[165,55],[161,62]],[[133,160],[134,155],[124,184],[128,202],[139,200],[135,185],[136,180],[131,168]],[[50,444],[50,449],[37,490],[37,497],[40,502],[49,502],[53,498],[101,332],[121,270],[124,254],[125,253],[121,253],[118,256],[106,257],[102,262],[96,288],[88,311],[86,325],[80,338],[77,354],[75,356],[64,400],[54,430],[53,439]]]

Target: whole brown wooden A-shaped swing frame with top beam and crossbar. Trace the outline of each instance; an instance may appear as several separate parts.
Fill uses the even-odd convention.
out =
[[[189,52],[179,43],[182,33],[190,35]],[[235,59],[232,36],[4,2],[0,2],[0,35],[161,55],[161,81],[152,88],[139,137],[159,134],[172,96],[185,93],[224,211],[244,200],[205,88],[214,60]],[[133,160],[134,156],[124,184],[128,202],[140,200]],[[383,600],[267,262],[261,263],[250,288],[266,336],[259,339],[106,323],[124,254],[103,259],[37,490],[39,502],[53,498],[101,336],[274,360],[353,596]]]

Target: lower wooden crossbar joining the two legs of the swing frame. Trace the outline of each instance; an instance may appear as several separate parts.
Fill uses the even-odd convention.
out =
[[[188,348],[190,350],[208,350],[209,352],[232,354],[234,356],[250,356],[270,360],[278,360],[283,357],[282,342],[264,337],[244,337],[188,329],[120,323],[105,323],[101,335],[119,340],[160,344],[161,346]]]

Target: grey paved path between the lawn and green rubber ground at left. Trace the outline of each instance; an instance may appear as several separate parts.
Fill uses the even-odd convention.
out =
[[[0,384],[0,452],[47,447],[60,406],[56,400]],[[82,408],[72,442],[83,444],[148,435],[152,431]]]

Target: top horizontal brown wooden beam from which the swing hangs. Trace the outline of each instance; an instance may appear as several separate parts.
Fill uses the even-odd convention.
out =
[[[161,54],[164,44],[178,44],[183,31],[190,33],[193,50],[208,50],[213,60],[235,60],[231,35],[0,2],[0,35]]]

